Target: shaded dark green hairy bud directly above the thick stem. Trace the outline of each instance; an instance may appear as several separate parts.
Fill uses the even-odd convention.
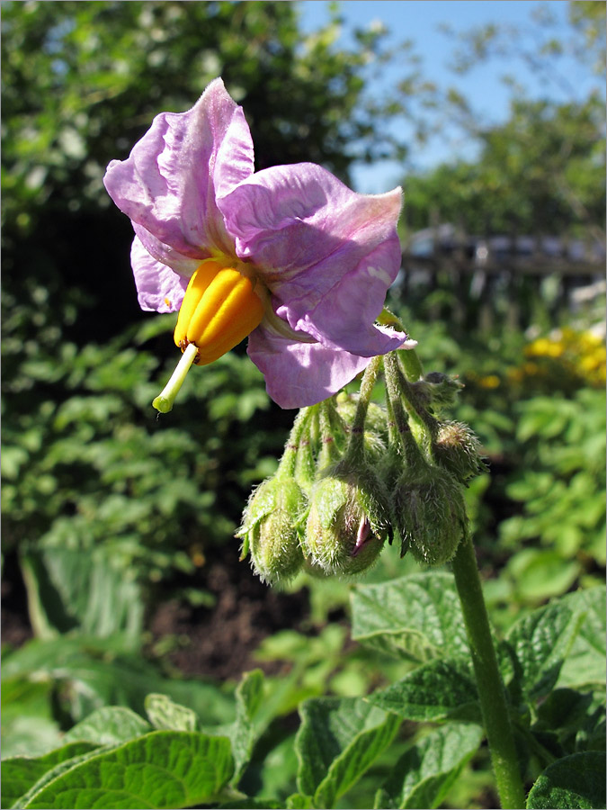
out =
[[[401,555],[410,550],[427,565],[448,563],[468,526],[460,483],[436,467],[427,467],[421,475],[403,473],[394,493],[394,514]]]

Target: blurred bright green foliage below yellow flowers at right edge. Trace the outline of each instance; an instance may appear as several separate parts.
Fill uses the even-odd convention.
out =
[[[516,412],[518,464],[506,494],[520,514],[504,520],[499,532],[506,548],[524,546],[505,574],[513,596],[526,601],[563,593],[585,572],[601,577],[605,396],[591,389],[572,399],[538,396]]]

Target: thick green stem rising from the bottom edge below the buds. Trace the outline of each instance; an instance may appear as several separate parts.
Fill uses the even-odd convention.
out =
[[[477,558],[469,536],[461,541],[452,566],[472,652],[497,792],[504,810],[506,808],[520,810],[525,806],[525,793],[514,746],[504,683],[497,667],[495,647],[478,575]]]

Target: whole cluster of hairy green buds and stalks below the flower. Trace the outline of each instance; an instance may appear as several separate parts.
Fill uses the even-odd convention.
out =
[[[484,469],[478,439],[436,417],[462,386],[444,374],[407,380],[391,353],[383,407],[370,401],[381,363],[371,360],[359,394],[299,411],[278,471],[249,499],[237,536],[263,581],[360,574],[394,535],[401,556],[439,565],[466,535],[464,487]]]

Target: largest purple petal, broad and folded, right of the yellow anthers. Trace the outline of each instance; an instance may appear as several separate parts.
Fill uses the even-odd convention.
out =
[[[373,327],[400,266],[400,189],[357,194],[304,163],[247,177],[218,205],[292,329],[364,356],[406,339]]]

